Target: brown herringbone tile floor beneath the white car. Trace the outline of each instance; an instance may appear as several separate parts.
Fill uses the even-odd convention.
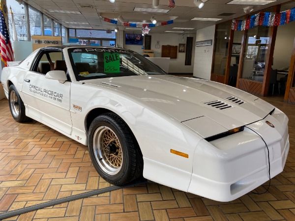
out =
[[[6,220],[294,221],[295,106],[264,99],[289,116],[291,143],[285,169],[271,180],[268,193],[248,193],[221,203],[148,183]],[[0,213],[109,186],[91,165],[86,146],[36,121],[15,122],[8,101],[0,100]],[[264,187],[257,191],[263,192]]]

